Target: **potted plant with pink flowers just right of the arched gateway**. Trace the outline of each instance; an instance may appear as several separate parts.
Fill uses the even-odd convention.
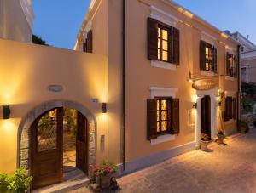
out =
[[[95,176],[96,184],[100,184],[103,189],[110,186],[110,180],[114,177],[117,167],[109,162],[102,162],[101,165],[96,166]]]

